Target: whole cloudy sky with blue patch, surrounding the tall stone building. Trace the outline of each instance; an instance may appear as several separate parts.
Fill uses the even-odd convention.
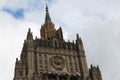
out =
[[[28,28],[40,37],[45,6],[65,40],[82,38],[88,67],[103,80],[120,79],[120,0],[0,0],[0,80],[12,80]]]

